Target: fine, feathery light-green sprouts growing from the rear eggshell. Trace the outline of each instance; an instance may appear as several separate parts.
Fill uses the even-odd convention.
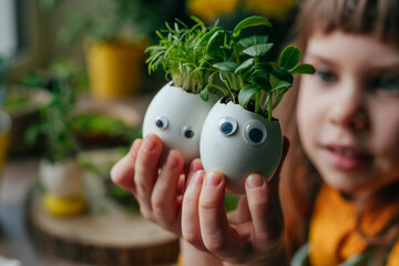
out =
[[[211,71],[201,68],[206,43],[200,40],[208,29],[204,22],[192,17],[195,24],[186,25],[176,19],[173,28],[166,23],[166,29],[156,31],[160,43],[149,47],[149,72],[162,65],[166,79],[172,79],[175,86],[198,94],[205,86]]]

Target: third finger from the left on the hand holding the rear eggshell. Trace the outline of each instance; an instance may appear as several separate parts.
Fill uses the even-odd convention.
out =
[[[180,213],[176,190],[183,166],[183,155],[178,151],[171,150],[152,193],[151,202],[154,215],[166,227],[176,221]]]

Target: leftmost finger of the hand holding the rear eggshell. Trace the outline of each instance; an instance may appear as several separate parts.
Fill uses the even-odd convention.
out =
[[[111,170],[112,182],[133,194],[135,194],[134,164],[142,143],[143,140],[135,140],[129,153],[116,162]]]

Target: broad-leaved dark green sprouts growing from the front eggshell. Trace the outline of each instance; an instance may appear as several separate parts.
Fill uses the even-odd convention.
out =
[[[300,51],[293,45],[283,50],[278,62],[266,62],[264,55],[273,47],[268,35],[242,34],[244,29],[258,25],[272,27],[266,18],[254,16],[242,20],[233,31],[214,27],[202,37],[196,47],[205,47],[202,65],[212,74],[201,96],[207,100],[208,91],[216,89],[234,103],[272,120],[273,110],[293,86],[293,75],[310,74],[315,69],[299,63]]]

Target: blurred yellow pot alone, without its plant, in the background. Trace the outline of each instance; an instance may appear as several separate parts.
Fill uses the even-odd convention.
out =
[[[145,44],[96,42],[88,51],[92,96],[115,100],[132,96],[142,83]]]

